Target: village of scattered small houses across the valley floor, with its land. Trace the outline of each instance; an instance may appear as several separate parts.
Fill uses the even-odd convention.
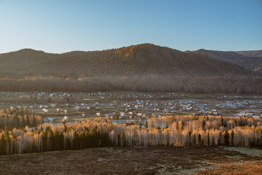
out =
[[[26,108],[43,123],[80,122],[85,118],[146,121],[167,115],[212,115],[262,118],[262,96],[235,96],[130,91],[0,92],[0,109]]]

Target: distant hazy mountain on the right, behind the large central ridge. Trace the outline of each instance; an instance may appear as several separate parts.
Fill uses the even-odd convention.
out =
[[[240,51],[240,52],[252,52],[252,51]],[[242,66],[243,68],[254,70],[258,73],[262,73],[262,57],[248,57],[238,52],[210,51],[204,49],[200,49],[197,51],[186,51],[186,53],[200,53],[209,56],[211,58],[228,61],[230,63]],[[260,53],[260,52],[254,51],[253,55],[259,55],[255,53]],[[249,55],[251,55],[251,53]]]

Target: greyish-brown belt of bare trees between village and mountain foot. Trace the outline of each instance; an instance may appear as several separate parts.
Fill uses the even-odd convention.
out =
[[[93,76],[0,79],[1,91],[110,91],[261,94],[262,77],[251,76]]]

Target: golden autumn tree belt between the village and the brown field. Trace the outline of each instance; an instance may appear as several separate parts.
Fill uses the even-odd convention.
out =
[[[130,122],[129,122],[130,123]],[[262,119],[221,116],[166,116],[145,123],[40,124],[30,130],[0,129],[0,155],[105,146],[262,146]]]

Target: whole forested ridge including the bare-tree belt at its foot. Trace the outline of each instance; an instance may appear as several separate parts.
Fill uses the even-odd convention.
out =
[[[236,62],[254,69],[261,65],[254,59]],[[238,63],[152,44],[62,54],[23,49],[0,54],[0,62],[2,91],[262,93],[261,75]]]

